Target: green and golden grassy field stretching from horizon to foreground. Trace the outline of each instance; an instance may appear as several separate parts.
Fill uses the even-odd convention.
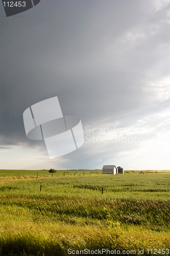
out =
[[[0,170],[0,255],[170,255],[170,173],[128,172]]]

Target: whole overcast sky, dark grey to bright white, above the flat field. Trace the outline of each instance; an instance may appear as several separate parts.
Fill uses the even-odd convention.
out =
[[[0,3],[0,169],[170,169],[169,0]],[[50,160],[23,112],[58,96],[85,143]]]

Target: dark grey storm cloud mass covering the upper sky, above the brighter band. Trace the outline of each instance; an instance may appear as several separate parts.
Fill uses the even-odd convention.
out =
[[[159,104],[150,109],[154,98],[143,88],[167,76],[169,62],[168,1],[158,10],[155,3],[41,0],[18,17],[1,17],[1,144],[43,147],[27,139],[22,114],[53,96],[84,127],[155,113]]]

